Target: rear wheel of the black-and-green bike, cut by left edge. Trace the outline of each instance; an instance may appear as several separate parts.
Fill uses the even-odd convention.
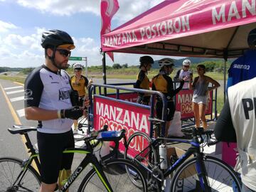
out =
[[[22,164],[20,159],[0,158],[0,191],[39,191],[41,179],[32,166],[26,166],[25,174],[18,178],[24,169]]]

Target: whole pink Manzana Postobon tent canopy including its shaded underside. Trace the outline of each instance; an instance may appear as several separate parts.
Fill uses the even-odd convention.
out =
[[[166,0],[101,36],[102,50],[223,58],[247,49],[255,0]]]

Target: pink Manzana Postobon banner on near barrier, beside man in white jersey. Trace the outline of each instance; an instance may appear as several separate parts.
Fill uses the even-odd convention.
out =
[[[128,104],[119,100],[97,97],[97,95],[93,97],[93,124],[96,130],[107,124],[110,131],[125,129],[127,138],[137,131],[149,135],[149,115],[149,109],[133,103]],[[134,151],[129,150],[129,155],[134,156],[134,152],[142,149],[143,144],[141,141],[134,142],[132,146]],[[119,145],[119,150],[124,151],[123,141]]]

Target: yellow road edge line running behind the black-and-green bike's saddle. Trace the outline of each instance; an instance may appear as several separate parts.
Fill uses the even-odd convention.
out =
[[[20,82],[15,82],[15,83],[19,84]],[[21,83],[21,85],[23,85],[23,84]],[[7,102],[7,105],[9,107],[9,110],[11,111],[11,115],[12,115],[12,117],[14,117],[15,124],[21,124],[21,120],[18,118],[18,115],[16,114],[16,112],[14,110],[14,107],[11,105],[11,102],[10,102],[9,98],[7,97],[7,95],[6,95],[6,92],[4,92],[4,88],[2,87],[1,84],[0,84],[0,87],[1,87],[1,91],[4,94],[4,97],[6,99],[6,102]],[[23,135],[21,135],[21,142],[23,142],[23,144],[25,146],[25,149],[27,150],[26,144],[25,144],[26,143],[26,139],[25,139],[25,137]],[[28,150],[27,150],[27,154],[28,154]],[[36,166],[34,161],[32,162],[32,166],[33,166],[34,169],[36,169],[36,171],[38,171],[37,166]],[[39,173],[39,171],[38,171],[38,173]]]

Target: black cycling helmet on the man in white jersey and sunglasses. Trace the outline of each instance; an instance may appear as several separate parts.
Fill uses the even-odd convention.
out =
[[[50,30],[43,32],[42,34],[42,40],[41,40],[41,46],[43,48],[48,47],[61,47],[61,48],[68,48],[68,49],[74,49],[74,41],[66,33],[65,31],[60,30]]]

